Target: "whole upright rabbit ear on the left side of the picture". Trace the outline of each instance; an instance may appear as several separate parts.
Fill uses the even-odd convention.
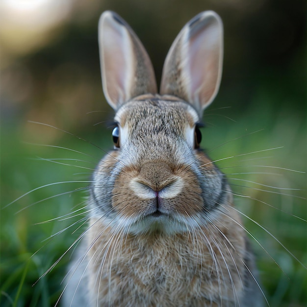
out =
[[[117,110],[142,94],[156,94],[151,60],[128,24],[116,13],[102,13],[99,26],[102,87],[105,98]]]

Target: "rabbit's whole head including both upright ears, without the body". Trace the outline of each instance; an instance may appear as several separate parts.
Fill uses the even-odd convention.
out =
[[[101,16],[99,47],[116,128],[115,150],[94,174],[103,182],[92,189],[95,214],[134,233],[205,224],[231,202],[223,174],[199,148],[203,110],[221,79],[221,19],[207,11],[184,26],[166,57],[159,93],[147,52],[113,12]]]

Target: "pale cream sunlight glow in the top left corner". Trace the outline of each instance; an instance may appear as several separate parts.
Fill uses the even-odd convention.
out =
[[[75,0],[1,0],[0,36],[6,56],[39,48],[65,22]]]

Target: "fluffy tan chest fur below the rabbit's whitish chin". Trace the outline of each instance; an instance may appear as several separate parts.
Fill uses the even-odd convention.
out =
[[[235,306],[242,294],[245,242],[227,226],[223,234],[209,225],[137,237],[105,229],[97,239],[97,224],[92,220],[88,234],[95,242],[87,255],[93,306]]]

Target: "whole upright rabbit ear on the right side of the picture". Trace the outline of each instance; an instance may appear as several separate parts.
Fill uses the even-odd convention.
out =
[[[223,24],[212,11],[187,23],[165,59],[160,94],[175,95],[194,105],[200,115],[215,98],[223,62]]]

